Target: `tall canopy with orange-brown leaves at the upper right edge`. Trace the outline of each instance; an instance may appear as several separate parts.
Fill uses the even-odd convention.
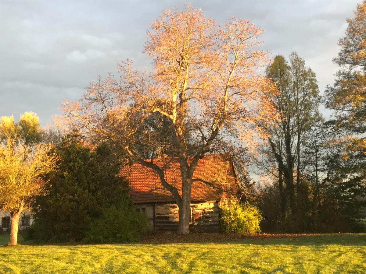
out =
[[[366,1],[347,19],[346,34],[333,61],[340,66],[333,86],[326,90],[326,106],[335,110],[338,125],[350,133],[366,132]],[[358,140],[366,153],[365,138]]]

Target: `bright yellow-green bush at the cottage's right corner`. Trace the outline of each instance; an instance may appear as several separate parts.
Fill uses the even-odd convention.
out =
[[[260,233],[259,222],[263,220],[257,207],[246,203],[221,206],[221,228],[227,233]]]

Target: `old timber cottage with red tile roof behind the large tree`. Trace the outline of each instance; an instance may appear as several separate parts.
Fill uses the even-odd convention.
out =
[[[167,157],[153,159],[153,163],[164,169],[167,182],[181,194],[179,164]],[[150,219],[151,231],[177,231],[178,205],[153,170],[135,163],[124,166],[120,175],[129,181],[131,199],[136,210]],[[234,165],[220,154],[206,155],[198,161],[193,178],[199,180],[192,184],[190,231],[219,232],[219,207],[234,200],[237,192]]]

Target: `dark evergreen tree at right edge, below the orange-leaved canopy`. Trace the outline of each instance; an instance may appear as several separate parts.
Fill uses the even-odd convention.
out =
[[[352,144],[351,144],[352,145]],[[326,177],[322,182],[321,219],[326,231],[364,231],[366,201],[365,165],[362,152],[348,150],[348,145],[332,140],[325,156]]]

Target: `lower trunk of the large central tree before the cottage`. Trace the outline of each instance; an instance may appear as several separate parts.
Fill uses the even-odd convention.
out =
[[[189,234],[189,222],[191,219],[191,183],[189,180],[182,183],[182,200],[178,206],[178,234]]]

